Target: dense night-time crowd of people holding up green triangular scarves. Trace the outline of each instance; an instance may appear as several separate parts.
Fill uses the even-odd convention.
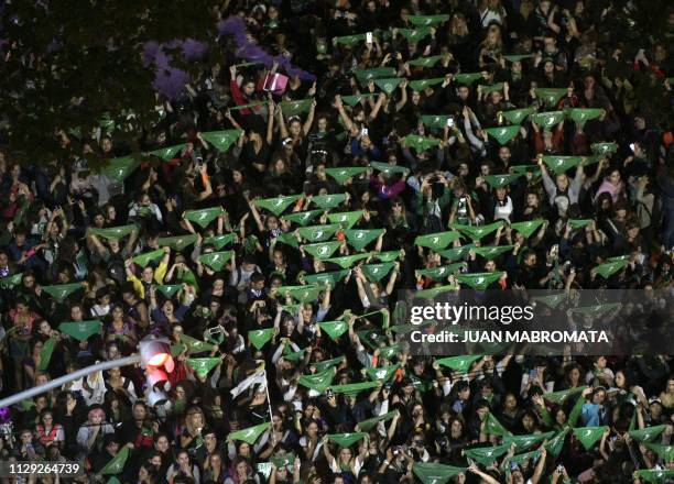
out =
[[[613,26],[631,9],[228,0],[214,22],[276,62],[222,33],[140,152],[109,124],[57,133],[69,160],[0,150],[2,395],[148,337],[174,362],[167,384],[129,365],[0,409],[2,461],[87,483],[674,482],[670,354],[447,360],[393,317],[422,290],[544,289],[550,315],[629,289],[663,296],[621,328],[671,328],[674,9],[643,45]]]

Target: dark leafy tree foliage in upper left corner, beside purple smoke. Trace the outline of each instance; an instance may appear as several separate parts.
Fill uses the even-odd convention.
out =
[[[1,13],[4,72],[0,112],[14,160],[67,157],[59,132],[91,133],[112,122],[131,146],[156,120],[155,69],[148,43],[216,37],[213,0],[8,2]],[[171,65],[194,72],[176,50]],[[162,73],[159,73],[162,75]]]

